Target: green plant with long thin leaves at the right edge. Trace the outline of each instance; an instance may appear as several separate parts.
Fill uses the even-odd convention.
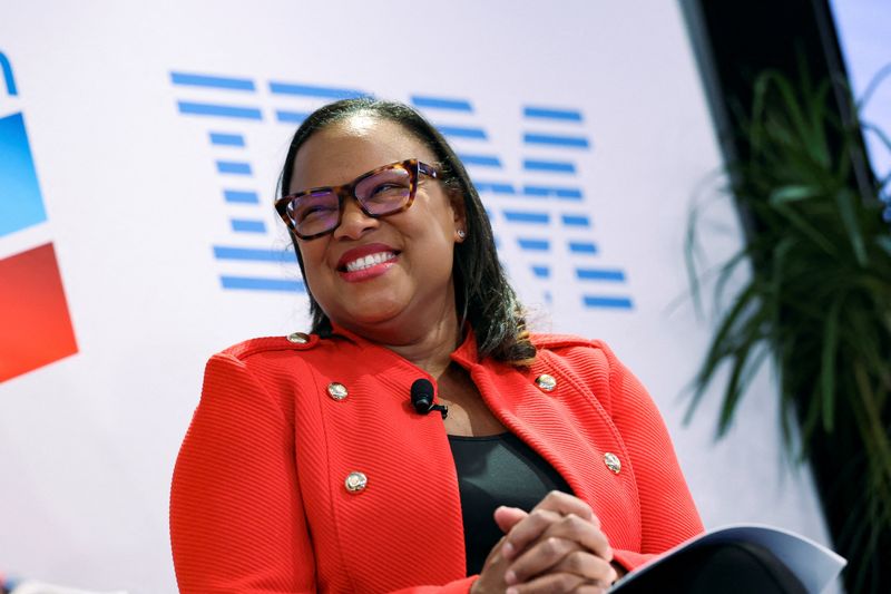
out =
[[[715,300],[738,290],[718,314],[689,413],[726,377],[724,435],[748,381],[772,357],[789,451],[812,466],[835,465],[835,479],[856,486],[860,505],[844,504],[852,508],[833,530],[849,558],[848,587],[878,591],[889,580],[879,559],[891,554],[891,225],[879,199],[889,181],[858,191],[858,118],[839,117],[838,86],[768,71],[754,90],[740,126],[747,155],[728,172],[751,224],[743,247],[715,271]],[[702,216],[692,212],[686,246],[697,300]],[[843,500],[835,486],[823,487],[824,509]]]

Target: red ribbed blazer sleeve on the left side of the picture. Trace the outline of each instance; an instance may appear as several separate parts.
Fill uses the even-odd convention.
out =
[[[170,489],[170,542],[180,593],[316,592],[296,465],[293,418],[244,361],[214,356]],[[399,593],[467,593],[476,580]]]

